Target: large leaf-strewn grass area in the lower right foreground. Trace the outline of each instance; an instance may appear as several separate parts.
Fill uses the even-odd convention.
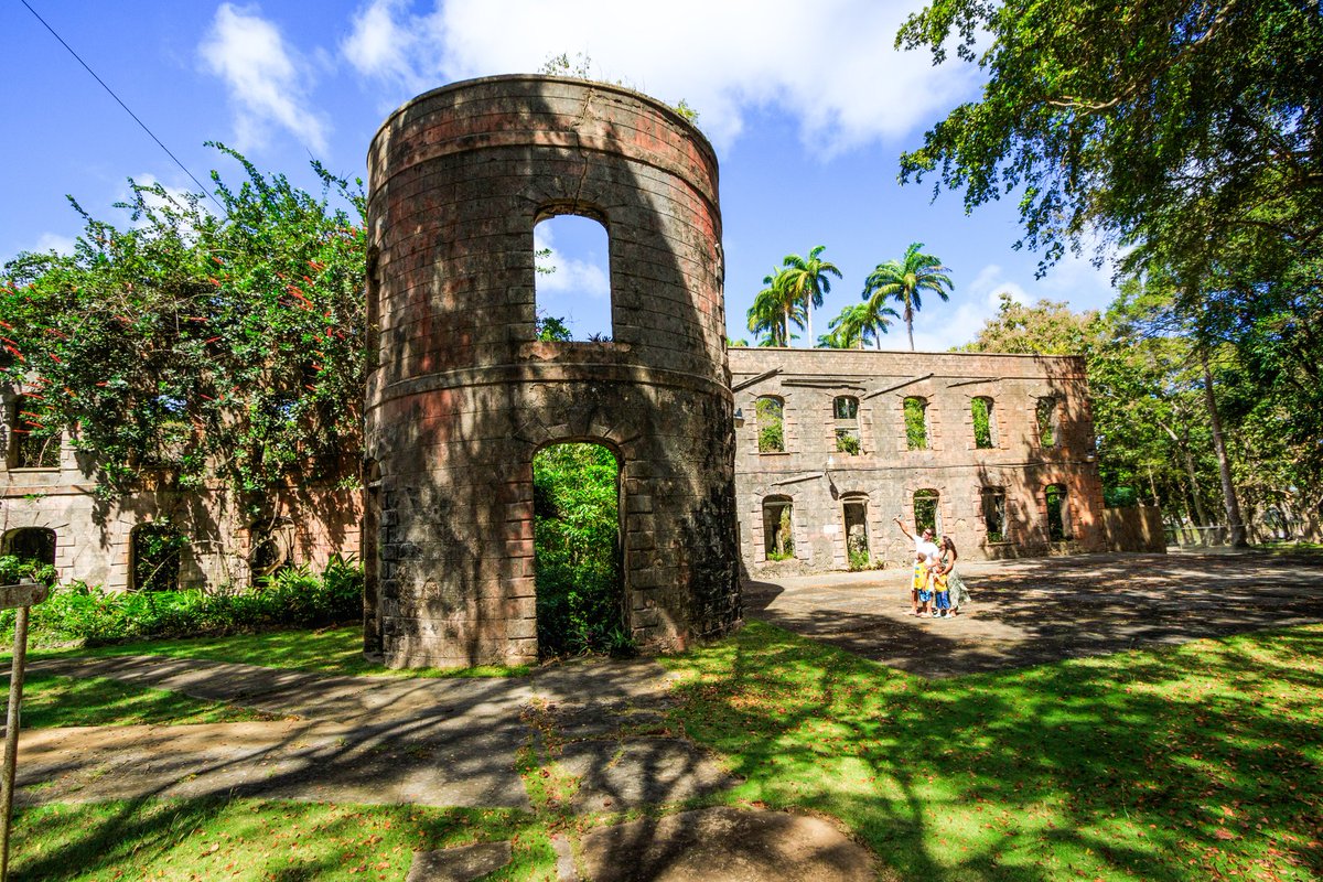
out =
[[[840,817],[902,878],[1323,873],[1323,627],[925,681],[753,623],[664,664],[732,799]]]

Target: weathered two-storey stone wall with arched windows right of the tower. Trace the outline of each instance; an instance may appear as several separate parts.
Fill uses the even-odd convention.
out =
[[[1084,361],[1077,357],[908,353],[832,349],[732,349],[741,551],[750,570],[830,570],[847,561],[843,505],[867,502],[869,551],[888,565],[913,546],[893,522],[913,530],[916,491],[938,493],[941,528],[960,554],[1099,550],[1102,487],[1093,461]],[[755,402],[785,401],[786,452],[759,454]],[[859,399],[860,455],[836,448],[832,401]],[[927,450],[909,450],[904,399],[927,402]],[[994,402],[992,448],[975,446],[971,399]],[[1039,442],[1037,403],[1060,403],[1058,443]],[[1070,540],[1049,542],[1044,488],[1064,484]],[[988,542],[982,489],[1005,491],[1003,542]],[[769,563],[762,508],[769,496],[792,502],[795,561]]]

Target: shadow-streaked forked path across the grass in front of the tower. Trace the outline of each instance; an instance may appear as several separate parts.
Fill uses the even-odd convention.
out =
[[[578,799],[627,807],[688,799],[729,779],[660,726],[668,674],[655,662],[548,668],[520,678],[324,677],[254,665],[124,656],[33,670],[112,677],[287,715],[278,722],[105,726],[22,733],[21,800],[267,796],[349,803],[528,807],[516,751],[540,710],[582,775]],[[658,721],[619,750],[620,730]],[[548,722],[550,721],[550,722]]]

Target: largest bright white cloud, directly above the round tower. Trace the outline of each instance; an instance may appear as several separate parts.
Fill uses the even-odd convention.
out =
[[[970,66],[933,67],[923,52],[893,49],[914,9],[896,0],[673,0],[659,13],[606,0],[437,0],[415,15],[400,0],[372,0],[341,50],[360,73],[394,82],[400,100],[583,53],[598,78],[687,100],[722,149],[747,111],[774,103],[799,119],[814,152],[831,156],[902,138],[972,89]]]

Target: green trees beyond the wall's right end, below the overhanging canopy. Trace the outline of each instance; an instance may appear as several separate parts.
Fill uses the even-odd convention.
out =
[[[1123,286],[1106,312],[1003,296],[966,349],[1084,354],[1109,504],[1143,501],[1162,505],[1172,522],[1224,525],[1200,346],[1164,324],[1167,303],[1135,283]],[[1297,432],[1308,418],[1290,414],[1291,398],[1261,385],[1262,374],[1234,345],[1212,350],[1209,376],[1245,520],[1261,530],[1299,533],[1323,504],[1318,443]]]

